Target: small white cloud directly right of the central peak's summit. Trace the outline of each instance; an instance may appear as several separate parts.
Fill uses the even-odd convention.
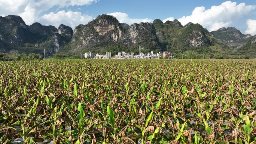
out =
[[[126,23],[128,25],[131,25],[134,23],[140,23],[140,22],[153,22],[152,19],[148,19],[148,18],[144,18],[144,19],[129,18],[126,13],[122,13],[122,12],[107,13],[107,15],[115,16],[120,23]]]

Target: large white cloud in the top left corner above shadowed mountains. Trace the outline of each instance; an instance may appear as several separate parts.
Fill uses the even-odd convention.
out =
[[[37,19],[39,19],[38,15],[51,9],[54,6],[83,6],[96,3],[98,1],[99,0],[0,0],[0,13],[1,16],[19,15],[27,25],[30,25],[33,24],[33,22],[36,22]],[[66,15],[68,15],[67,13]],[[74,13],[76,12],[73,12],[73,15],[77,15]],[[48,15],[50,14],[51,13],[49,13]],[[66,20],[68,21],[68,19]]]

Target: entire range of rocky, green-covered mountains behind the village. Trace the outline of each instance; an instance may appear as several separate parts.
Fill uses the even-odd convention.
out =
[[[250,34],[244,35],[233,27],[209,32],[200,24],[189,22],[183,26],[177,19],[165,23],[155,19],[152,23],[128,25],[113,16],[99,15],[88,24],[76,26],[73,31],[63,24],[58,28],[38,22],[28,26],[20,16],[0,16],[0,52],[16,48],[20,52],[27,49],[27,52],[41,50],[42,53],[46,48],[50,55],[58,52],[74,54],[74,49],[93,53],[138,53],[141,45],[144,53],[153,50],[177,55],[184,52],[223,55],[241,53],[241,48],[251,38]]]

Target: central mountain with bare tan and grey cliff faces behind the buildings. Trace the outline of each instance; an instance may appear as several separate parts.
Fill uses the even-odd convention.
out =
[[[86,25],[77,26],[66,47],[84,50],[96,48],[94,52],[98,52],[104,48],[134,50],[139,45],[150,50],[159,48],[155,28],[151,23],[141,22],[129,26],[120,24],[113,16],[101,15]]]

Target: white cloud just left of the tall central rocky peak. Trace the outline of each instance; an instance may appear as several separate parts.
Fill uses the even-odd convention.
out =
[[[64,10],[59,11],[58,13],[51,12],[49,14],[43,15],[39,22],[42,25],[54,25],[56,28],[60,24],[68,25],[74,28],[79,24],[87,24],[93,18],[89,15],[82,15],[80,12],[65,12]]]

